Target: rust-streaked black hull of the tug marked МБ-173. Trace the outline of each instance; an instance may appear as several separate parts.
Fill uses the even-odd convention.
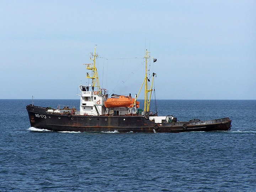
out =
[[[230,130],[226,117],[208,121],[154,123],[143,116],[81,116],[46,113],[46,108],[27,106],[31,127],[52,131],[75,132],[191,132]]]

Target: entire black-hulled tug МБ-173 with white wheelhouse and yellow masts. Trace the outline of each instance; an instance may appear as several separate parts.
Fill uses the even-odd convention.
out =
[[[38,107],[33,104],[27,105],[26,109],[30,118],[31,127],[47,129],[52,131],[75,131],[75,132],[191,132],[191,131],[214,131],[230,130],[231,120],[228,117],[201,121],[192,119],[186,122],[177,121],[171,115],[158,116],[149,111],[151,92],[153,91],[153,81],[155,73],[152,74],[151,85],[148,84],[149,70],[147,69],[150,52],[146,50],[145,78],[138,92],[144,85],[144,110],[139,109],[137,95],[112,94],[108,98],[108,91],[100,88],[98,73],[95,64],[96,47],[92,53],[93,64],[86,65],[86,78],[91,79],[92,84],[88,86],[80,85],[80,110],[74,107],[58,106],[57,109],[49,107]],[[32,102],[33,103],[33,102]]]

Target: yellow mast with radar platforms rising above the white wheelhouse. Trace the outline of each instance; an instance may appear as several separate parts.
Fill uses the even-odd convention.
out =
[[[92,63],[84,64],[84,65],[87,65],[86,69],[93,71],[93,73],[92,73],[93,76],[90,77],[89,73],[87,73],[86,78],[92,79],[92,86],[97,87],[98,94],[100,94],[101,93],[100,83],[99,83],[99,80],[98,80],[98,73],[97,73],[97,68],[96,68],[96,65],[95,65],[95,59],[98,57],[98,54],[96,54],[96,46],[94,48],[94,54],[92,54],[93,59],[90,58],[90,60],[93,60],[94,63],[93,64]],[[93,66],[91,67],[90,65],[93,65]],[[95,86],[95,84],[97,84],[97,86]]]

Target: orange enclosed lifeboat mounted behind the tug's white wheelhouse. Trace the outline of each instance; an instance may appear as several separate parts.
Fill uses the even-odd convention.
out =
[[[104,102],[105,107],[132,107],[135,99],[130,96],[120,95],[118,98],[108,98]],[[136,108],[139,108],[139,101],[136,101]]]

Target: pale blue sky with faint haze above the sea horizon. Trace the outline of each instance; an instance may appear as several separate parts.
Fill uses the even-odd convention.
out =
[[[110,92],[139,91],[147,48],[157,99],[256,99],[255,0],[2,0],[0,41],[0,99],[79,99],[95,44]]]

